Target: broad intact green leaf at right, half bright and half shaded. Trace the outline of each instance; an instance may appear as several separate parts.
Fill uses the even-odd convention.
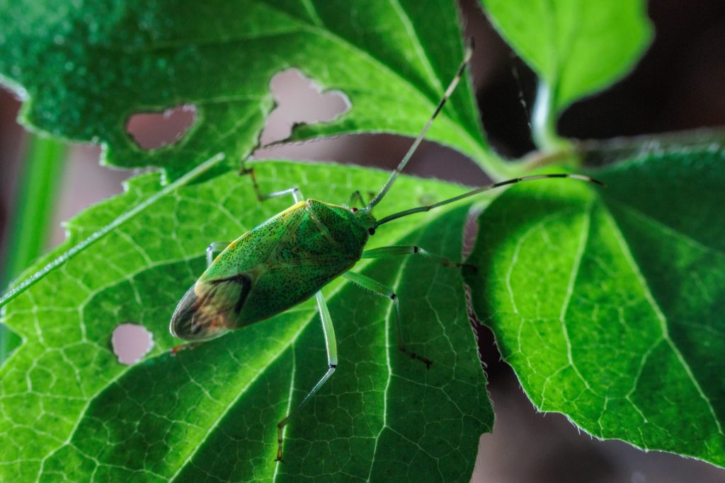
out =
[[[473,304],[542,411],[725,466],[725,152],[518,185],[480,218]],[[505,230],[502,229],[505,227]]]

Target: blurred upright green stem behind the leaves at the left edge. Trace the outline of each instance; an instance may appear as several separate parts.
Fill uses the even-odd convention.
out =
[[[9,222],[1,282],[6,287],[43,253],[65,167],[65,143],[29,135]],[[0,324],[0,363],[20,337]]]

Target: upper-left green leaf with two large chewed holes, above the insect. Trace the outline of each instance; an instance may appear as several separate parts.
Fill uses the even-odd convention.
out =
[[[344,116],[294,139],[341,133],[418,135],[463,58],[455,2],[0,1],[0,79],[27,101],[29,127],[104,145],[117,167],[174,177],[219,151],[236,162],[257,145],[273,109],[270,79],[296,67],[342,91]],[[144,151],[132,114],[193,104],[196,124],[171,146]],[[463,82],[431,140],[496,174]]]

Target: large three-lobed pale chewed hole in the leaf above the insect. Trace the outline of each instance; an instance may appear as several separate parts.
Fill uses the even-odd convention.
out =
[[[298,123],[330,122],[350,110],[350,101],[340,91],[322,92],[297,69],[278,72],[270,80],[277,107],[270,113],[262,131],[262,146],[289,138]]]

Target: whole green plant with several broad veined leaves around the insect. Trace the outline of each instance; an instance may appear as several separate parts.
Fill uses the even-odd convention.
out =
[[[0,367],[4,479],[470,479],[493,411],[455,271],[415,260],[363,265],[408,302],[402,317],[419,327],[411,336],[435,361],[430,371],[397,352],[386,301],[327,287],[331,313],[346,321],[336,325],[345,358],[307,416],[290,424],[282,464],[273,461],[276,422],[325,360],[312,303],[169,354],[168,319],[202,272],[208,243],[286,208],[258,203],[236,172],[273,108],[270,77],[298,67],[352,104],[334,122],[297,127],[293,139],[415,135],[463,53],[452,2],[320,3],[0,3],[0,75],[27,93],[28,125],[103,143],[104,163],[156,166],[171,179],[218,152],[228,159],[227,170],[163,197],[4,307],[4,324],[22,337]],[[639,1],[538,5],[484,1],[542,79],[539,159],[581,170],[587,153],[556,133],[555,119],[624,75],[651,28]],[[125,133],[131,114],[180,104],[194,104],[197,120],[178,143],[144,151]],[[468,83],[429,138],[494,178],[530,169],[489,148]],[[676,143],[618,157],[597,172],[609,185],[602,192],[542,182],[484,197],[469,257],[479,266],[467,280],[473,306],[542,410],[599,437],[724,466],[724,152]],[[386,178],[289,161],[255,169],[262,190],[299,185],[330,201]],[[67,243],[27,273],[152,196],[161,178],[138,176],[122,196],[73,219]],[[461,191],[402,177],[380,209]],[[391,224],[376,242],[457,258],[470,206]],[[153,350],[134,366],[118,364],[109,348],[124,322],[154,334]]]

